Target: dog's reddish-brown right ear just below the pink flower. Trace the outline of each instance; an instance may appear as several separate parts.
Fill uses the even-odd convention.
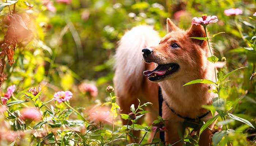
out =
[[[203,26],[192,24],[192,26],[187,31],[189,37],[206,37]],[[192,39],[192,38],[191,38]],[[207,45],[207,42],[199,39],[192,39],[193,42],[197,43],[200,46]]]

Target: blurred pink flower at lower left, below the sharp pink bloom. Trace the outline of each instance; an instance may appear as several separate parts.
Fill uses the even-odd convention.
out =
[[[29,120],[38,120],[38,119],[42,119],[42,115],[41,113],[36,109],[36,108],[23,108],[20,111],[20,118],[25,120],[25,119],[29,119]]]

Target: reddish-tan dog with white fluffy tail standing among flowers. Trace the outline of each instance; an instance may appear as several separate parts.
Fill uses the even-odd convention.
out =
[[[149,111],[147,122],[151,124],[158,116],[160,86],[165,101],[162,105],[165,141],[182,146],[180,131],[184,117],[196,119],[204,115],[200,119],[204,122],[211,119],[212,114],[202,105],[210,105],[216,97],[208,92],[212,87],[207,84],[183,85],[196,79],[215,81],[214,64],[207,60],[211,56],[207,41],[191,38],[206,37],[203,26],[191,25],[188,30],[182,30],[169,18],[166,24],[167,34],[163,38],[150,26],[137,26],[124,34],[115,55],[114,87],[116,96],[120,97],[121,113],[131,112],[129,107],[138,105],[137,98],[153,103],[146,109]],[[127,124],[127,120],[123,120],[123,124]],[[211,144],[210,129],[201,134],[200,146]],[[133,134],[140,137],[138,131]]]

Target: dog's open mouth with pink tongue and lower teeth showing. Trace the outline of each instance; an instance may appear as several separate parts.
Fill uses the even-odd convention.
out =
[[[150,81],[157,81],[177,72],[179,68],[180,66],[175,63],[159,64],[154,70],[146,70],[143,74],[145,77],[148,77]]]

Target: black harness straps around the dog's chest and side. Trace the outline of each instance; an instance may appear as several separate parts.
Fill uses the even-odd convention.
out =
[[[176,113],[172,107],[170,107],[170,105],[163,99],[163,95],[162,95],[162,89],[161,87],[158,88],[158,105],[159,105],[159,116],[162,117],[162,106],[163,106],[163,101],[165,102],[165,104],[167,105],[167,107],[178,117],[188,120],[188,121],[200,121],[200,119],[204,118],[206,115],[208,115],[210,113],[210,111],[207,111],[205,114],[197,117],[197,118],[189,118],[186,116],[181,116],[180,114]],[[160,139],[162,142],[165,142],[165,132],[164,131],[160,131]]]

